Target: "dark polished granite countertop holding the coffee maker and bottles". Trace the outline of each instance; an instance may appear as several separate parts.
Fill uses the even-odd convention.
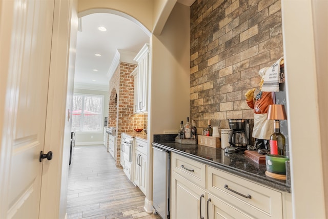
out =
[[[175,141],[163,140],[165,139],[154,135],[153,145],[183,156],[187,156],[193,160],[247,178],[254,182],[281,191],[291,192],[291,187],[286,183],[286,181],[276,180],[275,178],[266,176],[266,168],[264,164],[257,164],[243,154],[227,154],[224,153],[221,148],[211,148],[202,145],[185,145],[176,143]]]

